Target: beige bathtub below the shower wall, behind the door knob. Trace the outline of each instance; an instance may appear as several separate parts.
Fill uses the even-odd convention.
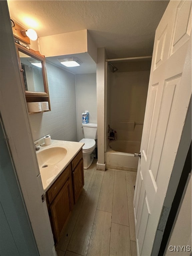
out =
[[[139,153],[140,146],[140,141],[111,141],[105,152],[106,169],[137,172],[139,158],[134,153]]]

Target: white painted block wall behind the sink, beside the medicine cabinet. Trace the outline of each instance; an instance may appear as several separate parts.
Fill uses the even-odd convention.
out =
[[[46,62],[51,111],[30,115],[33,139],[77,141],[75,75]]]

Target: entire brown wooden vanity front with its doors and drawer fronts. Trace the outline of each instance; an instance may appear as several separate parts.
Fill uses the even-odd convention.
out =
[[[46,192],[46,202],[53,232],[58,244],[71,215],[74,202],[84,186],[83,151],[77,153],[57,180]]]

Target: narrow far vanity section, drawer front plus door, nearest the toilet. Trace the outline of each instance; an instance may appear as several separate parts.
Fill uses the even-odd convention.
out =
[[[72,168],[72,179],[73,179],[73,196],[74,196],[74,202],[76,203],[84,186],[82,149],[72,160],[71,168]]]

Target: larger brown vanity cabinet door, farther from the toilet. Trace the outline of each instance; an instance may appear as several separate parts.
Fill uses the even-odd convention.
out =
[[[49,206],[55,243],[59,242],[65,224],[70,217],[73,201],[72,196],[71,179],[68,178]]]

